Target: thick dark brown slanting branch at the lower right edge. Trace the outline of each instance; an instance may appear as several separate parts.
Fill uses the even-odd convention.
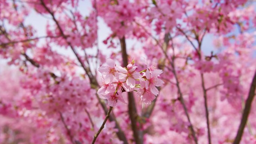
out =
[[[252,80],[252,84],[250,86],[250,91],[249,91],[249,95],[248,98],[246,99],[246,105],[243,111],[243,116],[237,131],[237,135],[235,137],[234,143],[233,144],[239,144],[241,141],[241,138],[243,136],[243,132],[244,132],[244,128],[246,126],[247,123],[247,119],[249,117],[249,113],[251,110],[251,106],[252,106],[252,102],[253,102],[253,98],[255,96],[255,89],[256,89],[256,71],[255,74],[253,76],[253,80]]]

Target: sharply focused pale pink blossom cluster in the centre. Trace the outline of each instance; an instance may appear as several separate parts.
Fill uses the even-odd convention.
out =
[[[127,67],[116,65],[113,59],[107,59],[106,63],[107,65],[98,69],[102,77],[101,88],[98,89],[97,94],[100,98],[107,99],[107,104],[111,107],[115,106],[118,100],[125,103],[122,92],[131,91],[137,92],[137,96],[141,97],[141,102],[151,104],[151,101],[159,94],[156,86],[164,84],[159,79],[163,71],[153,66],[147,65],[146,70],[137,72],[138,67],[134,65],[134,61]]]

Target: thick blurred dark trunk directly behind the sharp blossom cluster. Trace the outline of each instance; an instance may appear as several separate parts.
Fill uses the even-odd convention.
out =
[[[121,43],[121,51],[122,51],[122,57],[123,57],[123,67],[126,67],[128,65],[128,57],[127,57],[127,51],[126,51],[125,37],[122,37],[122,39],[120,39],[120,43]],[[128,113],[131,119],[131,127],[133,131],[135,144],[143,144],[143,138],[142,138],[143,133],[137,127],[138,114],[137,114],[135,100],[132,92],[128,92]]]

